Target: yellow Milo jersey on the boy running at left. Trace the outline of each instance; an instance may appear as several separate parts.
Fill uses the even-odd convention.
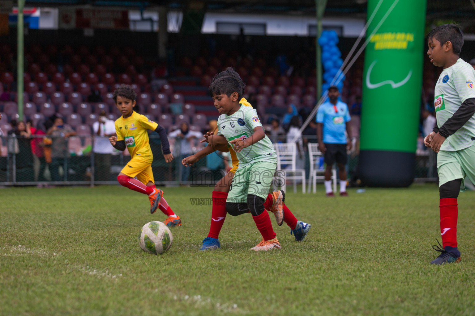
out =
[[[158,124],[146,116],[132,112],[127,118],[122,116],[115,120],[117,141],[124,140],[131,157],[141,156],[144,161],[152,163],[153,154],[150,149],[147,130],[154,131]]]

